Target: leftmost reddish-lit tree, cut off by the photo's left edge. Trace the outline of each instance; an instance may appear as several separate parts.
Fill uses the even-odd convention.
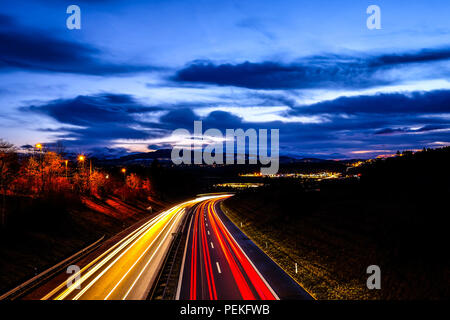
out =
[[[17,171],[18,160],[16,147],[0,139],[0,188],[3,195],[0,223],[2,226],[6,223],[6,192]]]

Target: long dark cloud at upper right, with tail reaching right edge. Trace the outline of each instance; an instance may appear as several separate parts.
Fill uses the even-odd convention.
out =
[[[274,61],[215,64],[194,61],[172,77],[179,83],[203,83],[249,89],[366,88],[392,83],[377,72],[411,63],[450,59],[450,49],[427,49],[369,57],[312,56],[286,64]]]

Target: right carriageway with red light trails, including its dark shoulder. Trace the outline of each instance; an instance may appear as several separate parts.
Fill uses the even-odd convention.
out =
[[[193,212],[177,299],[311,299],[225,217],[218,205],[225,198],[205,200]]]

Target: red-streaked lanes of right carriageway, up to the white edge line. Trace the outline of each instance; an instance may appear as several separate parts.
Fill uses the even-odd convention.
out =
[[[226,197],[205,200],[193,213],[177,299],[279,299],[219,217]]]

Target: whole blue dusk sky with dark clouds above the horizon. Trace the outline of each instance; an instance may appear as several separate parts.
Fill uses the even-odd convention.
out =
[[[81,8],[81,30],[66,8]],[[381,30],[366,8],[381,8]],[[444,1],[10,1],[0,137],[77,152],[171,132],[280,129],[280,152],[371,157],[450,144]]]

